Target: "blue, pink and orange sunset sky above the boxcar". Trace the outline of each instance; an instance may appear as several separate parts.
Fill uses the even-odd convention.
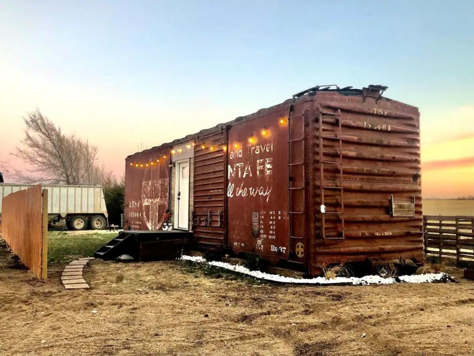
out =
[[[474,195],[473,1],[1,1],[0,161],[39,108],[124,159],[317,84],[419,107],[424,197]],[[6,181],[11,181],[7,175]]]

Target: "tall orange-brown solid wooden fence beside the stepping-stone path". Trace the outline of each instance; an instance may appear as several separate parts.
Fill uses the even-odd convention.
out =
[[[0,231],[10,249],[33,274],[47,277],[48,191],[41,184],[2,199]]]

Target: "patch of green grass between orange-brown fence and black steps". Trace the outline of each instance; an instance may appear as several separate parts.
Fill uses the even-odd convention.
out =
[[[65,264],[80,257],[90,257],[116,234],[48,231],[48,265]]]

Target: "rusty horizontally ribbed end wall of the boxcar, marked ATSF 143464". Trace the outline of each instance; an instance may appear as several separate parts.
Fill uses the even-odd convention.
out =
[[[311,269],[330,263],[364,261],[367,258],[423,259],[419,113],[415,107],[389,99],[366,102],[359,96],[317,93],[319,112],[341,110],[342,167],[345,239],[321,238],[319,134],[317,119],[310,133],[312,161],[308,208],[316,227]],[[316,112],[317,113],[317,112]],[[334,118],[334,119],[333,119]],[[335,116],[323,120],[323,135],[337,136]],[[323,160],[339,161],[339,142],[323,139]],[[324,164],[324,185],[337,186],[339,167]],[[389,213],[389,198],[409,203],[415,197],[415,217],[396,218]],[[325,190],[327,211],[341,209],[340,195]],[[342,229],[339,215],[326,215],[327,237]]]

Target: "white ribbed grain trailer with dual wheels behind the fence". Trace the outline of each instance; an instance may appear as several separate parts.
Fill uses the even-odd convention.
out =
[[[32,185],[0,183],[0,219],[2,198]],[[104,189],[100,185],[42,184],[42,187],[48,191],[50,223],[65,220],[70,230],[101,230],[107,226],[109,214],[105,206]]]

